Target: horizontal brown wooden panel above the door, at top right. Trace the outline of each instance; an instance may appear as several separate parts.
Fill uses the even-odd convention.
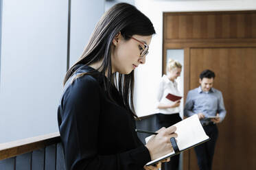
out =
[[[253,12],[183,12],[164,15],[165,39],[256,38]]]

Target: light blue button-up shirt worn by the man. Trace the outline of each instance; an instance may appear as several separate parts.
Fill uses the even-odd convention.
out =
[[[201,86],[189,90],[184,108],[184,116],[191,117],[200,112],[205,114],[205,119],[200,119],[201,123],[209,123],[211,119],[207,119],[207,117],[216,116],[217,113],[220,114],[220,121],[223,121],[226,116],[226,110],[220,90],[211,88],[209,92],[204,92]]]

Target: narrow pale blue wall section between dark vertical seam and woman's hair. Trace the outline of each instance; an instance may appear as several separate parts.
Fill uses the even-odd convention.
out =
[[[105,12],[105,0],[71,1],[70,63],[72,66],[82,55],[93,29]]]

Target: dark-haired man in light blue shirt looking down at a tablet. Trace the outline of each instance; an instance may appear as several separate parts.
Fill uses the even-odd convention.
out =
[[[222,93],[213,88],[214,77],[213,71],[202,71],[199,79],[200,86],[189,90],[184,109],[185,117],[198,115],[202,127],[211,138],[210,141],[195,147],[200,170],[211,169],[214,148],[218,138],[216,123],[223,121],[226,116]]]

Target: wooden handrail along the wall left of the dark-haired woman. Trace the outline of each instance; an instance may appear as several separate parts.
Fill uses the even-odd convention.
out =
[[[54,145],[60,142],[59,132],[52,134],[45,134],[41,136],[36,136],[32,138],[25,138],[19,141],[13,141],[10,143],[0,144],[0,160],[7,158],[12,158],[14,156],[25,154],[42,147],[47,147],[49,145]]]

